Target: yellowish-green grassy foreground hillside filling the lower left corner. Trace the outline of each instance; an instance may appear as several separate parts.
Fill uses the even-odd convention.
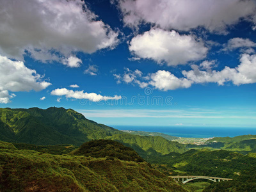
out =
[[[102,141],[88,144],[91,154],[95,154],[93,145],[99,143]],[[106,143],[101,152],[109,148],[113,154],[119,154],[119,150],[132,152],[121,144]],[[52,155],[18,150],[11,143],[0,141],[0,191],[186,191],[145,161],[83,156],[88,152],[84,145],[77,156]]]

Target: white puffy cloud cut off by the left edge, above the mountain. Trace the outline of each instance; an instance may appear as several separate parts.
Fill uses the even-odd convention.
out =
[[[27,68],[22,61],[12,61],[5,56],[0,56],[0,103],[8,103],[15,97],[8,91],[40,91],[51,85],[42,78],[35,70]]]

